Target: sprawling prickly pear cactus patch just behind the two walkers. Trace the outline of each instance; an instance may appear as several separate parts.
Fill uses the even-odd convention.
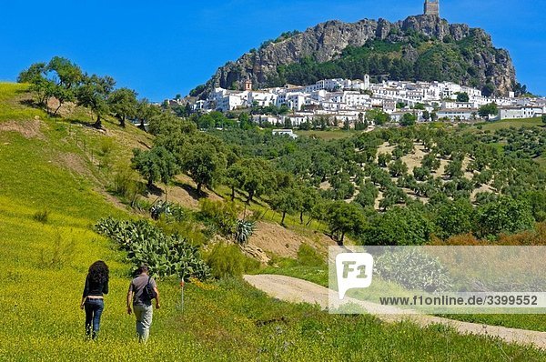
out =
[[[157,277],[178,276],[207,279],[210,270],[199,256],[199,248],[180,236],[167,236],[146,220],[125,221],[108,217],[96,226],[99,234],[110,237],[127,251],[127,258],[136,267],[146,264]]]

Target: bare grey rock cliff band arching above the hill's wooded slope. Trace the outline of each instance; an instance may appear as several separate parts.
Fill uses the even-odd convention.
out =
[[[465,55],[464,61],[472,67],[473,81],[460,79],[461,84],[484,87],[494,85],[495,93],[504,95],[516,84],[511,56],[506,50],[493,47],[490,35],[468,25],[448,24],[444,19],[431,15],[410,16],[397,23],[384,19],[361,20],[357,23],[328,21],[308,28],[286,40],[272,43],[242,55],[236,62],[218,68],[207,82],[204,92],[217,86],[229,88],[240,85],[248,77],[256,87],[271,85],[278,77],[279,65],[290,65],[303,58],[312,58],[319,63],[335,60],[349,45],[363,46],[369,40],[407,42],[411,35],[425,35],[436,41],[460,42],[470,39],[476,52]],[[406,49],[404,57],[416,58],[416,50]],[[420,80],[420,79],[416,79]]]

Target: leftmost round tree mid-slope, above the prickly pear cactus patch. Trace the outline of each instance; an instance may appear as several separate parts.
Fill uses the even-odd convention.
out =
[[[148,188],[156,181],[168,184],[179,171],[176,157],[164,147],[156,146],[149,151],[135,149],[133,155],[132,166],[147,180]]]

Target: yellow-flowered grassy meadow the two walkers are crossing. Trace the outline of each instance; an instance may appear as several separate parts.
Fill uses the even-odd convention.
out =
[[[5,102],[19,96],[17,89],[19,85],[0,85],[4,97],[0,120],[19,115],[14,109],[17,102],[12,102],[15,106]],[[88,175],[57,159],[68,152],[90,164],[91,151],[98,154],[105,137],[119,131],[106,124],[111,132],[103,136],[82,127],[79,139],[86,140],[84,148],[76,146],[72,126],[65,121],[49,120],[34,109],[24,113],[28,116],[17,120],[44,119],[42,138],[0,131],[0,360],[541,358],[540,352],[527,347],[461,337],[440,327],[389,326],[373,317],[329,316],[315,307],[269,299],[238,280],[188,286],[183,311],[177,309],[177,282],[161,281],[163,309],[155,315],[152,340],[147,347],[137,346],[134,321],[124,307],[129,266],[89,227],[102,216],[130,215],[96,191],[100,175],[89,181]],[[135,129],[122,136],[147,141]],[[114,158],[125,158],[126,151],[119,146]],[[45,225],[33,219],[44,208],[51,211]],[[111,267],[111,293],[106,297],[101,340],[89,343],[83,338],[84,316],[78,304],[86,267],[99,258]]]

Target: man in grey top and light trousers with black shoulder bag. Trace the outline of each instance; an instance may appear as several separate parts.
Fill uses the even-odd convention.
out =
[[[135,311],[138,341],[146,342],[150,334],[154,313],[152,298],[156,299],[156,309],[159,309],[159,291],[157,290],[156,281],[148,276],[147,266],[138,267],[137,273],[138,277],[131,281],[129,291],[127,292],[127,313],[130,315],[133,310]],[[149,287],[147,287],[148,284]],[[149,296],[148,289],[153,290],[155,296]],[[131,304],[133,305],[132,309]]]

